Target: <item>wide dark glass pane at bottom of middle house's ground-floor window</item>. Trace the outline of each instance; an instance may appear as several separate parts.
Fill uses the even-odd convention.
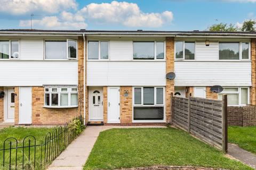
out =
[[[164,107],[133,107],[134,120],[163,120]]]

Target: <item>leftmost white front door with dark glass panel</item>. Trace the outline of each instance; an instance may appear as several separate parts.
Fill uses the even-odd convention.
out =
[[[6,121],[14,120],[14,111],[15,111],[14,101],[15,101],[14,89],[8,88],[7,89],[7,117],[6,117],[7,119],[6,119]]]

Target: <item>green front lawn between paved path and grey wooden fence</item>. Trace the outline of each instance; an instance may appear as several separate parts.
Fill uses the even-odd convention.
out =
[[[252,169],[173,128],[111,129],[100,133],[84,169],[153,165]]]

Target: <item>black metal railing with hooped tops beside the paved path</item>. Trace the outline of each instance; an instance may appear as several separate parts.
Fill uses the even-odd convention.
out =
[[[58,126],[45,135],[38,144],[33,135],[22,141],[7,138],[0,149],[0,169],[45,169],[73,141],[84,128],[82,116],[64,126]]]

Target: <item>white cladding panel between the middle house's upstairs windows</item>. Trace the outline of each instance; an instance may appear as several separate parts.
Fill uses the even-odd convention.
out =
[[[110,60],[111,61],[131,61],[133,60],[132,41],[110,40]]]

